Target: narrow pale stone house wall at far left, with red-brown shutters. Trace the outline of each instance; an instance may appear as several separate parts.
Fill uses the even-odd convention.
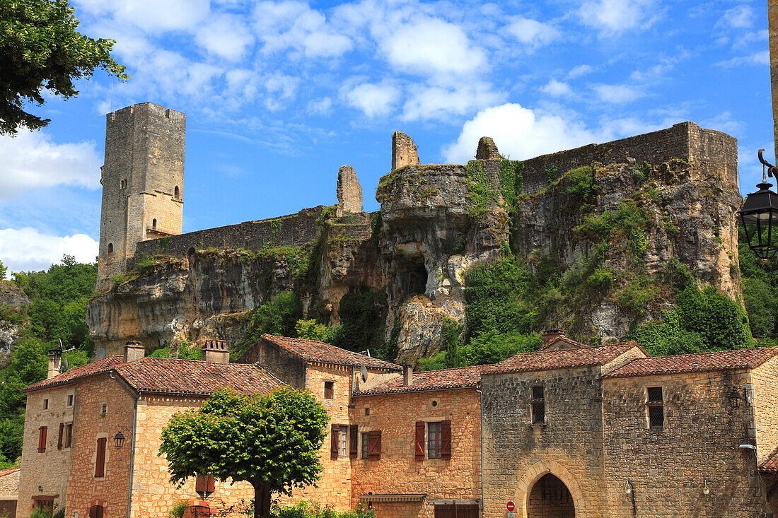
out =
[[[65,504],[65,490],[68,487],[68,471],[74,447],[58,450],[59,424],[74,421],[75,398],[68,407],[68,394],[74,395],[72,386],[37,390],[27,394],[24,416],[24,439],[22,444],[22,470],[19,474],[19,502],[16,516],[26,518],[33,510],[33,496],[53,496],[54,506]],[[44,401],[48,400],[48,409]],[[38,453],[39,428],[47,426],[46,451]],[[77,436],[73,429],[73,443]],[[40,491],[38,487],[43,490]]]

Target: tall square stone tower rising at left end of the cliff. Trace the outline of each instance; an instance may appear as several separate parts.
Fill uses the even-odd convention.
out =
[[[141,103],[107,114],[97,289],[127,271],[138,241],[181,233],[186,115]]]

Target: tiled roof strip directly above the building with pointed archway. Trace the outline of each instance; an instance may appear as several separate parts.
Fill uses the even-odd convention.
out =
[[[605,365],[633,347],[640,347],[634,341],[622,344],[603,345],[580,349],[562,349],[561,351],[525,352],[511,356],[496,365],[485,366],[483,374],[524,373],[536,370],[566,369]]]

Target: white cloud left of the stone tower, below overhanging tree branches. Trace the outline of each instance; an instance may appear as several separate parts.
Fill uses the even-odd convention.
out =
[[[54,185],[100,187],[100,157],[95,142],[58,144],[40,131],[0,136],[0,200]]]

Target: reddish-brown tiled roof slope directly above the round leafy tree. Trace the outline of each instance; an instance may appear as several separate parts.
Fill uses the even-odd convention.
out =
[[[244,394],[265,394],[279,386],[252,364],[149,358],[124,363],[116,372],[135,390],[164,394],[209,395],[222,388]]]

